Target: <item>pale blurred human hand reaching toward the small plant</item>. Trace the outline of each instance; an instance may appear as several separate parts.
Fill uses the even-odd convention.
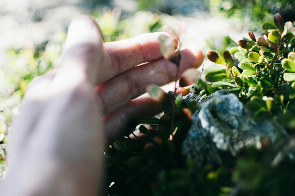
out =
[[[1,195],[97,195],[104,144],[121,137],[131,120],[161,112],[144,94],[149,84],[173,80],[159,71],[176,72],[160,53],[161,34],[102,43],[91,17],[70,24],[61,68],[32,81],[25,94]],[[179,75],[203,61],[194,48],[181,56]]]

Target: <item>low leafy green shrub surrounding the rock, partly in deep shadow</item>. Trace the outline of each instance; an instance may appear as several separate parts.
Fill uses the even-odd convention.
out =
[[[253,118],[280,122],[290,137],[273,143],[261,138],[261,149],[244,148],[234,162],[196,169],[191,159],[181,155],[181,143],[198,104],[186,105],[183,94],[166,95],[152,86],[148,92],[162,102],[164,115],[142,118],[140,122],[150,128],[140,124],[137,130],[141,136],[131,128],[125,137],[106,147],[109,195],[294,193],[295,28],[291,22],[284,23],[279,14],[275,14],[274,23],[276,27],[263,24],[264,37],[256,38],[249,32],[249,40],[240,40],[222,55],[208,51],[208,59],[216,65],[204,70],[206,81],[186,89],[201,96],[228,89],[248,107]],[[180,57],[175,58],[178,52],[174,54],[173,42],[166,42],[168,39],[160,38],[163,55],[178,65]],[[185,88],[181,92],[185,93]],[[278,148],[283,150],[277,153]]]

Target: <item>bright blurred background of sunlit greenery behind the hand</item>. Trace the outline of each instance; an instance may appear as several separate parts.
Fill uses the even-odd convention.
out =
[[[279,12],[295,20],[294,0],[1,0],[0,1],[0,180],[5,175],[6,143],[28,83],[59,66],[70,21],[90,14],[106,42],[163,25],[187,25],[183,46],[197,44],[204,53],[224,51],[248,31],[263,35]]]

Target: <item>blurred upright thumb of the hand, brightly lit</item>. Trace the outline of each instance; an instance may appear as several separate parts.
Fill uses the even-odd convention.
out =
[[[61,58],[62,67],[55,83],[73,85],[88,81],[95,86],[103,60],[102,36],[96,21],[90,16],[81,16],[68,28],[65,51]]]

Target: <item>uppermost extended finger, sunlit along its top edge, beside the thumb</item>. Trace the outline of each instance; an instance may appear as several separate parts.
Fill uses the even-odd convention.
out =
[[[167,33],[146,33],[127,40],[104,43],[104,61],[98,84],[141,63],[161,58],[158,37],[162,34]]]

